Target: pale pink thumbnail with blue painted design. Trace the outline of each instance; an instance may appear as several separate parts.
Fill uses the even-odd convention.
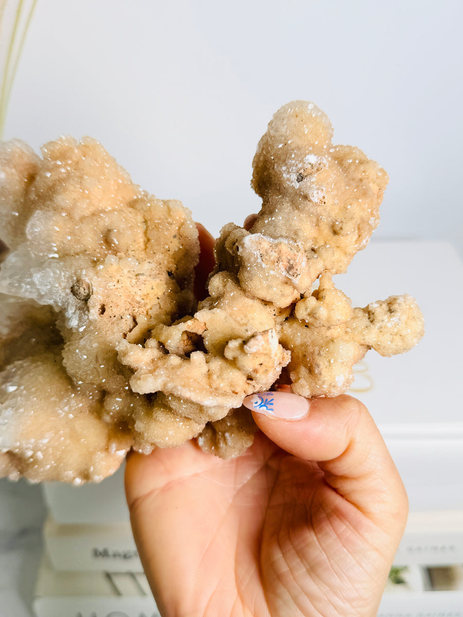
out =
[[[309,401],[290,392],[259,392],[243,400],[244,407],[269,418],[301,420],[309,413]]]

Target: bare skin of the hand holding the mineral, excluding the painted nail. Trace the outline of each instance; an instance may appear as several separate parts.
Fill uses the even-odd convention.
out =
[[[200,241],[211,249],[205,230]],[[374,617],[408,503],[369,412],[342,395],[312,400],[301,420],[254,420],[238,458],[194,442],[128,457],[131,524],[161,615]]]

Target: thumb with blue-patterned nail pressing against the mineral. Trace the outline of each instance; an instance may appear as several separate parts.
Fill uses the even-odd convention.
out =
[[[270,401],[270,399],[273,399]],[[263,433],[283,450],[317,462],[325,481],[375,523],[404,526],[403,482],[372,416],[347,395],[307,400],[289,392],[244,399]]]

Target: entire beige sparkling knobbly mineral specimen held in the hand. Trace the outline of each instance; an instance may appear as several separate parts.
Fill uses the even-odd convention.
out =
[[[246,395],[338,395],[368,349],[398,354],[423,334],[411,297],[352,309],[333,284],[378,225],[388,177],[333,146],[312,103],[270,122],[252,176],[262,210],[249,231],[223,228],[199,304],[180,202],[142,191],[93,139],[42,155],[0,151],[0,475],[99,481],[131,447],[193,437],[235,456],[256,429]]]

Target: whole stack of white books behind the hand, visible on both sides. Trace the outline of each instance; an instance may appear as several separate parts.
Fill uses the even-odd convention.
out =
[[[414,296],[426,334],[411,352],[369,352],[351,394],[369,408],[409,494],[411,514],[378,617],[463,617],[463,264],[445,242],[372,242],[336,284],[352,304]],[[156,617],[123,494],[123,470],[99,485],[44,486],[50,516],[37,617]]]

